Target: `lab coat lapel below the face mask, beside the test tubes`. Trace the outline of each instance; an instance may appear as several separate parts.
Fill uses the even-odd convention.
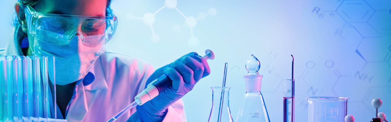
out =
[[[68,108],[68,113],[65,118],[69,122],[82,121],[88,112],[88,105],[83,82],[76,86],[75,92],[75,97]]]

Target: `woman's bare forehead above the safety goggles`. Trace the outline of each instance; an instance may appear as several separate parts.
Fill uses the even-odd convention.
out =
[[[105,16],[107,0],[41,0],[34,9],[51,14]]]

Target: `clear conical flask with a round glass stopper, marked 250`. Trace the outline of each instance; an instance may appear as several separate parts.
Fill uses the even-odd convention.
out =
[[[237,122],[270,122],[264,98],[261,94],[262,75],[258,74],[259,60],[251,55],[246,62],[247,75],[243,76],[246,94],[239,107]]]

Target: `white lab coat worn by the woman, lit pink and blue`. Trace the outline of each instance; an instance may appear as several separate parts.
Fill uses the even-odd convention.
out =
[[[11,39],[5,49],[0,49],[0,55],[23,53],[20,44]],[[68,106],[65,118],[68,122],[106,122],[135,100],[135,96],[144,89],[146,80],[154,70],[152,65],[134,57],[106,52],[95,61],[90,72],[95,76],[91,84],[84,86],[81,82],[75,86],[74,99]],[[57,113],[61,111],[57,109]],[[135,107],[117,121],[141,120]],[[163,122],[181,121],[186,122],[186,116],[183,102],[179,100],[168,108]]]

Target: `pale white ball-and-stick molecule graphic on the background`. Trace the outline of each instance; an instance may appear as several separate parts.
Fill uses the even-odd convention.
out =
[[[143,17],[135,17],[135,16],[131,15],[130,19],[142,20],[145,25],[147,25],[147,26],[149,26],[149,28],[151,28],[151,32],[152,32],[151,41],[153,43],[158,43],[160,41],[160,36],[158,34],[156,34],[153,29],[153,24],[155,22],[155,15],[158,14],[158,12],[160,12],[162,9],[165,9],[165,8],[166,9],[175,9],[176,11],[178,11],[179,14],[181,14],[181,16],[183,16],[183,18],[185,18],[185,22],[184,22],[184,25],[174,25],[174,27],[172,29],[174,30],[174,32],[178,33],[181,31],[181,28],[183,28],[183,27],[190,28],[191,36],[188,39],[188,44],[190,46],[197,47],[200,42],[199,42],[198,38],[194,36],[193,28],[197,25],[197,21],[204,20],[206,18],[206,16],[216,16],[217,11],[215,8],[209,8],[207,14],[201,12],[198,14],[198,17],[195,18],[194,16],[185,16],[185,14],[183,14],[181,11],[179,11],[179,9],[176,7],[177,4],[178,4],[177,0],[165,0],[163,7],[158,9],[156,12],[146,13],[146,14],[144,14]]]

